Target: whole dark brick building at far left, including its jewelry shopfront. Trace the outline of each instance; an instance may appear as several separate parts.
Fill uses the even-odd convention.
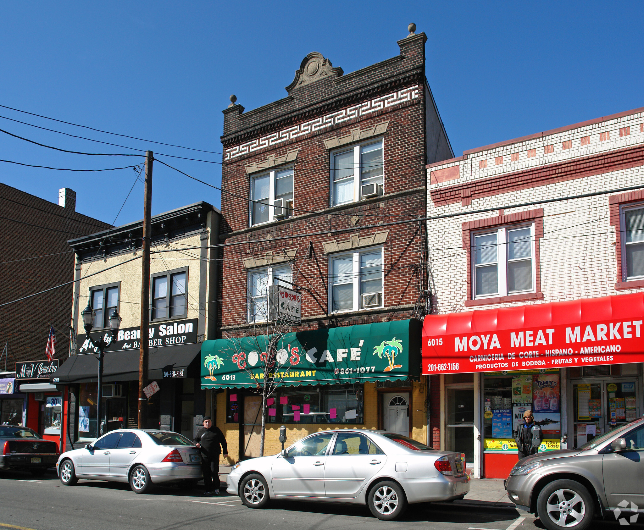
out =
[[[14,187],[0,184],[2,207],[2,267],[5,286],[0,304],[37,292],[37,296],[0,307],[0,423],[17,422],[44,435],[61,421],[60,392],[49,384],[52,366],[46,361],[45,346],[50,327],[56,332],[55,363],[70,354],[70,299],[73,292],[74,253],[67,241],[110,227],[97,219],[77,213],[76,193],[59,191],[59,203],[49,202]],[[33,368],[41,378],[32,374]],[[24,373],[13,374],[16,362]],[[17,379],[14,378],[17,377]],[[7,392],[11,388],[12,392]],[[38,399],[35,399],[37,397]],[[59,430],[59,428],[58,428]],[[59,440],[58,435],[51,439]]]

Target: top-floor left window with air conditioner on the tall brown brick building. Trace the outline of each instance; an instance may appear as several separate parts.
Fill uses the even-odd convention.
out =
[[[293,214],[293,168],[276,169],[251,181],[251,226]]]

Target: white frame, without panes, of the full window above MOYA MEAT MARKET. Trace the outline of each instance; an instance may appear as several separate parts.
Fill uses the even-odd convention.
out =
[[[530,252],[532,260],[532,289],[516,290],[509,292],[507,289],[507,232],[512,230],[530,229]],[[486,234],[497,234],[497,292],[477,295],[477,236]],[[515,296],[516,294],[526,294],[536,292],[536,243],[535,243],[535,223],[521,225],[505,225],[490,227],[488,230],[478,230],[470,234],[470,267],[471,267],[471,289],[472,299],[497,298],[498,296]],[[501,241],[501,242],[500,242]]]

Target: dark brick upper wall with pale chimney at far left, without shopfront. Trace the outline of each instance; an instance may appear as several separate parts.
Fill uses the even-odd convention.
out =
[[[4,229],[5,289],[0,303],[28,296],[73,280],[74,253],[67,241],[110,227],[77,213],[76,193],[61,190],[62,205],[0,184]],[[43,256],[43,257],[38,257]],[[15,361],[46,358],[50,324],[57,330],[56,358],[69,355],[70,299],[73,285],[28,298],[0,309],[0,343],[8,343],[7,369]],[[0,368],[4,370],[4,359]]]

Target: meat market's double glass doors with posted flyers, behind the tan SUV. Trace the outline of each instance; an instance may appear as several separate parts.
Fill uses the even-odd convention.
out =
[[[641,415],[639,377],[582,379],[572,386],[574,447]]]

